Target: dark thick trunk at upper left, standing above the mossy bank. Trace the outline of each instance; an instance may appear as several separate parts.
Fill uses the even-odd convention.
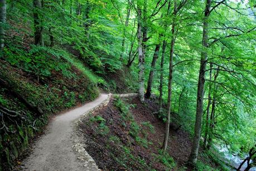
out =
[[[35,27],[35,45],[44,46],[43,39],[43,30],[42,26],[42,15],[40,14],[42,10],[42,3],[40,0],[33,0],[33,19],[34,19],[34,27]]]

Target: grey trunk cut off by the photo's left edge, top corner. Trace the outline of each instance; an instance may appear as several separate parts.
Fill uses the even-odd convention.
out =
[[[4,47],[4,25],[6,24],[6,0],[0,0],[0,48]]]

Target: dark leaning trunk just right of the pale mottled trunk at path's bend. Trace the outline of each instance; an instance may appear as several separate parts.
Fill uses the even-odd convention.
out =
[[[147,99],[150,98],[151,96],[151,89],[152,89],[152,82],[153,82],[153,78],[154,78],[154,70],[155,70],[155,66],[156,66],[156,61],[158,58],[158,53],[160,50],[160,44],[156,45],[156,48],[154,49],[154,55],[153,55],[153,59],[152,59],[152,63],[151,63],[151,70],[149,72],[149,76],[148,76],[148,85],[147,85],[147,92],[145,94],[145,97]]]

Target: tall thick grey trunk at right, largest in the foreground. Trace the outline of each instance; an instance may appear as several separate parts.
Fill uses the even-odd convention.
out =
[[[197,104],[196,104],[196,121],[195,121],[195,133],[192,143],[192,149],[189,157],[189,165],[195,167],[197,162],[197,155],[199,150],[200,136],[201,136],[201,124],[202,124],[202,112],[204,108],[204,86],[205,86],[205,68],[207,62],[207,47],[208,47],[208,18],[210,14],[211,0],[206,0],[205,14],[203,19],[203,31],[202,31],[202,52],[199,79],[197,84]]]

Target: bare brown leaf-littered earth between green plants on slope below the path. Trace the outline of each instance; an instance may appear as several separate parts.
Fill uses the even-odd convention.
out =
[[[138,144],[136,140],[129,134],[129,128],[131,123],[126,122],[127,127],[123,126],[123,120],[120,116],[120,111],[114,105],[114,99],[111,99],[109,105],[103,109],[95,111],[91,114],[93,116],[102,116],[105,120],[105,125],[109,128],[109,133],[106,135],[100,135],[97,133],[99,123],[91,124],[89,119],[83,120],[84,124],[80,124],[80,129],[83,130],[84,139],[86,140],[85,149],[95,160],[100,169],[103,170],[147,170],[139,162],[139,160],[133,160],[127,157],[127,161],[124,164],[117,162],[119,155],[122,155],[122,145],[128,146],[131,150],[131,154],[135,158],[142,158],[147,165],[150,165],[151,169],[166,170],[165,165],[156,160],[156,156],[159,154],[158,150],[161,148],[162,139],[165,131],[165,124],[161,119],[158,119],[154,114],[158,110],[157,104],[153,100],[146,99],[145,104],[142,104],[137,97],[130,97],[124,99],[128,104],[134,104],[135,108],[130,108],[130,111],[134,117],[136,123],[141,126],[142,130],[146,131],[147,141],[151,142],[148,147]],[[144,126],[142,123],[148,122],[154,126],[154,133]],[[174,126],[173,126],[174,125]],[[188,133],[178,129],[175,123],[172,124],[170,130],[170,141],[168,144],[168,152],[175,159],[177,165],[174,170],[182,167],[186,162],[190,154],[191,140]],[[143,133],[140,133],[140,136]],[[120,143],[117,141],[109,141],[110,136],[117,136],[120,139]],[[122,145],[120,145],[122,144]]]

